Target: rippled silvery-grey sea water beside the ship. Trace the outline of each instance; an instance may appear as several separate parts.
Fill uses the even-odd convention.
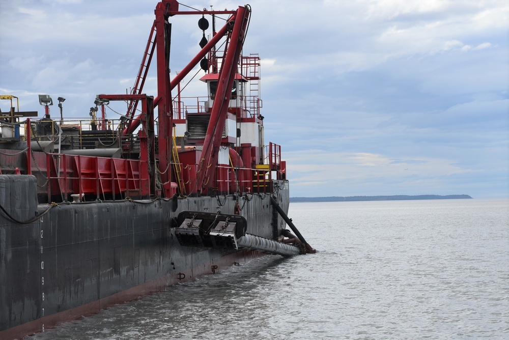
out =
[[[294,203],[267,256],[32,339],[507,339],[509,201]]]

